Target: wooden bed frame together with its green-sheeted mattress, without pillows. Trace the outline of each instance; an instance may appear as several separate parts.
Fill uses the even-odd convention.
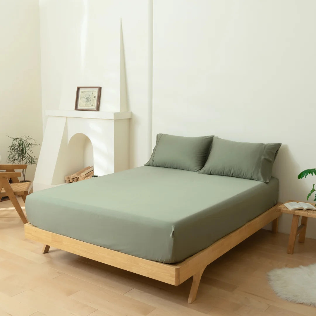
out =
[[[269,183],[143,166],[27,197],[26,237],[178,285],[273,221]]]

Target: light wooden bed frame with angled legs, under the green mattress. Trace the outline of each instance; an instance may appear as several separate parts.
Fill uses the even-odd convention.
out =
[[[282,215],[282,213],[276,211],[279,205],[281,204],[276,204],[263,214],[247,222],[244,226],[217,240],[208,248],[176,264],[166,264],[134,257],[122,252],[51,233],[37,228],[30,223],[24,225],[25,237],[43,243],[42,253],[47,253],[52,246],[173,285],[179,285],[193,276],[188,299],[188,303],[192,303],[196,298],[202,273],[208,264],[270,222],[272,222],[272,232],[277,233],[278,217]]]

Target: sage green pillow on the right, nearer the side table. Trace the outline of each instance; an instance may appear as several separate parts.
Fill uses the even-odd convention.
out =
[[[240,143],[214,137],[204,174],[269,182],[280,143]]]

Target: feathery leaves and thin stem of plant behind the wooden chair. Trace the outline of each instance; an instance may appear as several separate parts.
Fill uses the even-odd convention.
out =
[[[11,164],[19,164],[19,165],[36,165],[37,158],[33,156],[32,148],[38,146],[39,144],[35,143],[35,139],[30,136],[23,137],[10,137],[12,139],[12,145],[9,146],[9,156],[7,162]],[[26,169],[22,169],[23,181],[21,182],[29,182],[25,180],[25,172]]]

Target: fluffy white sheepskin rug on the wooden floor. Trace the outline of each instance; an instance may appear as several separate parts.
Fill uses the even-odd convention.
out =
[[[283,300],[316,306],[316,264],[274,269],[267,276],[271,288]]]

